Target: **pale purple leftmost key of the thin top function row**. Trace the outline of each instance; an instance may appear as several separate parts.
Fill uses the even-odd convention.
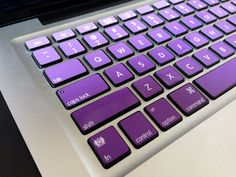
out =
[[[31,39],[25,42],[25,46],[28,50],[34,50],[40,47],[45,47],[50,44],[50,41],[46,36]]]

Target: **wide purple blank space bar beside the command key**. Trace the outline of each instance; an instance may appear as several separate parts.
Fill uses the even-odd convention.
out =
[[[236,58],[196,79],[194,83],[211,99],[216,99],[236,85]]]

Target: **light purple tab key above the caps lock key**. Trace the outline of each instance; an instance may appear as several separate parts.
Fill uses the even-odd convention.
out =
[[[77,59],[67,60],[60,64],[48,67],[44,75],[52,87],[59,86],[87,73],[87,69]]]

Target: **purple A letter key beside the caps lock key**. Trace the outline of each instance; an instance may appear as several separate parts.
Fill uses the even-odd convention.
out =
[[[105,69],[104,74],[116,87],[134,79],[134,75],[121,63]]]

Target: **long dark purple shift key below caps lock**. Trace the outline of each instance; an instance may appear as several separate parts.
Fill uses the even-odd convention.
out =
[[[138,98],[125,87],[80,108],[71,116],[80,131],[88,134],[139,105]]]

